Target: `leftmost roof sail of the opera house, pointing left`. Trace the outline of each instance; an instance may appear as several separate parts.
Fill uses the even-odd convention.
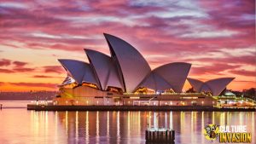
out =
[[[91,83],[99,86],[96,76],[90,68],[90,64],[80,60],[59,59],[61,65],[65,68],[77,84]]]

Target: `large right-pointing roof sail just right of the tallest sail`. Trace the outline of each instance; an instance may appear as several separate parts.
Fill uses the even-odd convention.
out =
[[[183,85],[188,77],[191,64],[185,62],[169,63],[154,69],[153,72],[164,78],[166,82],[172,85],[175,92],[182,92]]]

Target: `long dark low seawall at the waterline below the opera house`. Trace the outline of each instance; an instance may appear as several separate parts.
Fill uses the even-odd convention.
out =
[[[208,106],[54,106],[27,105],[27,110],[36,111],[205,111],[205,112],[256,112],[251,108],[218,108]]]

